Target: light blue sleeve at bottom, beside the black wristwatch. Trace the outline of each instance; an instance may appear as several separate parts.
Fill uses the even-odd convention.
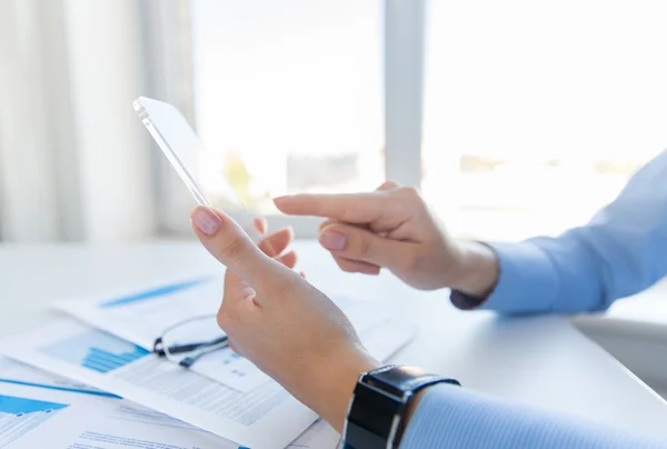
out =
[[[430,448],[650,449],[667,448],[667,440],[437,385],[421,398],[400,442],[400,449]]]

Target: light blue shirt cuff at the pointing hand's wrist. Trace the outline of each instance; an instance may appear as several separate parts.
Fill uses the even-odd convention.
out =
[[[548,256],[530,241],[488,243],[499,265],[498,283],[488,298],[451,291],[451,302],[462,310],[496,310],[509,315],[549,311],[558,280]]]

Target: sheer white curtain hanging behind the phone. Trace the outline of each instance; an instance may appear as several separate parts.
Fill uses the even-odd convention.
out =
[[[0,239],[143,240],[190,206],[132,110],[192,118],[186,0],[0,1]]]

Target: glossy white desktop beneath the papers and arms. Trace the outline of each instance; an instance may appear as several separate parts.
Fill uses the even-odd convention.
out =
[[[313,242],[295,247],[300,268],[325,292],[391,298],[419,325],[419,337],[395,361],[456,377],[467,388],[667,437],[665,401],[565,319],[461,312],[446,292],[419,292],[389,275],[346,275]],[[121,293],[216,263],[198,243],[0,246],[0,335],[49,320],[53,299]]]

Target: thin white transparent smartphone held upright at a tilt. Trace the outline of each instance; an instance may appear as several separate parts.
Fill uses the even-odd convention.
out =
[[[258,242],[261,236],[252,226],[252,219],[259,213],[249,210],[225,179],[222,156],[203,148],[188,120],[173,106],[146,97],[139,97],[133,106],[195,200],[231,214]]]

